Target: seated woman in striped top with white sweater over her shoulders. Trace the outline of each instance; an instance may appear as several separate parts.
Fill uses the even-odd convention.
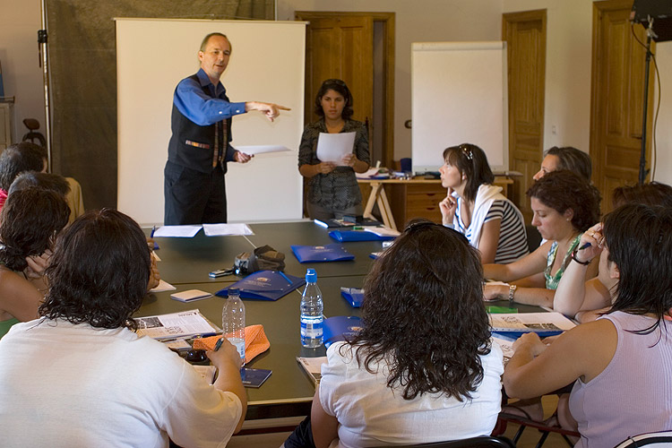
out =
[[[530,254],[525,222],[513,202],[501,193],[486,153],[474,144],[444,151],[441,185],[448,195],[439,202],[444,226],[465,235],[481,254],[481,263],[513,263]]]

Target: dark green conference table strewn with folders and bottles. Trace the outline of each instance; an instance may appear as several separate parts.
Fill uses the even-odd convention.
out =
[[[231,267],[237,254],[252,252],[254,247],[268,245],[285,254],[285,272],[304,277],[306,268],[317,271],[317,284],[322,289],[326,317],[335,315],[359,315],[359,309],[353,308],[340,296],[340,287],[361,288],[373,259],[372,252],[382,250],[380,241],[342,243],[355,255],[347,262],[298,263],[290,246],[319,246],[335,243],[328,236],[328,230],[313,221],[301,220],[279,223],[249,224],[254,235],[231,237],[206,237],[203,231],[192,238],[160,238],[156,253],[159,255],[159,272],[163,280],[168,281],[178,291],[202,289],[215,294],[240,277],[230,275],[211,279],[208,272]],[[147,229],[149,234],[149,229]],[[245,299],[246,325],[263,324],[264,332],[271,342],[271,348],[254,358],[246,366],[270,369],[269,379],[258,388],[246,388],[248,407],[246,420],[267,418],[286,418],[306,416],[310,411],[314,395],[314,384],[303,368],[298,365],[297,357],[321,357],[325,355],[323,347],[305,349],[299,339],[299,288],[277,301]],[[224,298],[210,297],[192,303],[182,303],[170,298],[176,291],[151,293],[144,298],[136,317],[156,314],[177,313],[199,309],[201,313],[216,323],[221,323],[221,309]],[[492,305],[498,304],[496,302]],[[536,306],[518,306],[521,312],[538,311]]]

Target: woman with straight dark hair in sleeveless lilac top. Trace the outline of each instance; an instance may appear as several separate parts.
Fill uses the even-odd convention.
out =
[[[626,204],[607,214],[603,231],[600,256],[618,279],[614,306],[550,345],[524,335],[504,371],[506,393],[519,398],[576,381],[569,410],[578,447],[672,429],[672,210]]]

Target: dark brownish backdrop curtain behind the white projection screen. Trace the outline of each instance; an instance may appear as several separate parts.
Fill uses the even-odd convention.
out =
[[[275,15],[273,0],[44,2],[50,68],[52,169],[82,184],[87,209],[116,207],[113,19],[273,20]],[[137,45],[142,46],[142,42]],[[194,53],[197,50],[194,47]],[[147,48],[147,57],[152,57],[151,48]],[[156,163],[163,165],[165,159]],[[142,188],[142,179],[138,180],[137,186]],[[156,200],[163,201],[163,198]]]

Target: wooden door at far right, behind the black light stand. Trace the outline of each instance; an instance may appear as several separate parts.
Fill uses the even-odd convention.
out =
[[[593,182],[602,193],[603,212],[612,208],[612,190],[619,185],[636,183],[639,174],[646,51],[633,38],[633,31],[642,42],[646,38],[641,25],[631,30],[632,5],[631,0],[593,4],[590,156]],[[652,73],[653,70],[651,76]],[[650,88],[650,98],[652,91]],[[649,100],[649,107],[651,105]],[[648,130],[650,116],[651,108]],[[647,159],[650,160],[650,148],[647,148]]]

